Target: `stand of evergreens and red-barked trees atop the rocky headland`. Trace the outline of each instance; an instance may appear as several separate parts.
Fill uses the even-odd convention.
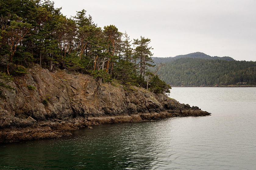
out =
[[[98,27],[84,9],[67,18],[48,0],[0,0],[0,6],[1,79],[26,74],[37,63],[50,71],[66,69],[155,93],[169,91],[148,70],[153,66],[149,38],[130,40],[115,25]]]

